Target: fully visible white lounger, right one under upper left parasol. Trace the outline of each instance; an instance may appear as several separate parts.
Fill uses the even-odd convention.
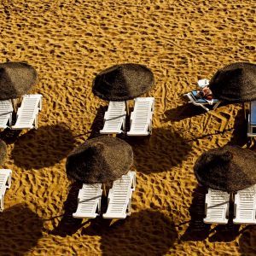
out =
[[[41,94],[23,96],[21,106],[17,111],[17,120],[12,129],[37,129],[38,112],[42,109],[42,99]]]

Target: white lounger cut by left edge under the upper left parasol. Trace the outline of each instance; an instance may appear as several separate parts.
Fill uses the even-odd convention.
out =
[[[0,129],[5,129],[12,125],[13,110],[11,100],[0,101]]]

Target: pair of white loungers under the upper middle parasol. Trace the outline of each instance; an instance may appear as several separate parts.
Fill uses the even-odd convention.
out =
[[[148,136],[152,131],[154,113],[154,97],[139,97],[134,100],[128,136]],[[108,111],[104,115],[102,134],[125,133],[125,102],[109,102]]]

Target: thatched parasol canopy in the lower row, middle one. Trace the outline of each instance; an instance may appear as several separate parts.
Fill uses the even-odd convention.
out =
[[[113,182],[133,164],[131,146],[108,136],[87,140],[67,157],[67,177],[82,183]]]

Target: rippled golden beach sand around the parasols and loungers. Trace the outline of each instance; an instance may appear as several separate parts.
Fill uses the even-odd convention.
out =
[[[255,255],[253,227],[237,235],[201,223],[204,191],[193,173],[203,151],[242,143],[241,107],[203,113],[181,99],[218,68],[256,60],[255,9],[253,0],[2,0],[0,61],[36,67],[32,92],[44,106],[38,130],[8,145],[0,254]],[[66,157],[102,128],[96,73],[125,62],[155,76],[153,135],[127,140],[137,171],[132,214],[110,227],[102,218],[81,223],[71,218],[79,187],[67,180]]]

